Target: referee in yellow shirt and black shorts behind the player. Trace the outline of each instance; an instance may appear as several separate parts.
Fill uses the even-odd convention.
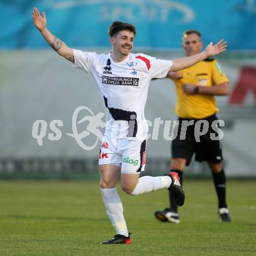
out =
[[[196,30],[185,31],[182,37],[182,47],[187,56],[198,54],[202,48],[201,33]],[[212,58],[204,59],[179,72],[169,72],[167,77],[172,79],[176,86],[175,110],[180,121],[177,137],[172,141],[171,172],[178,173],[182,184],[184,168],[189,166],[194,153],[196,161],[207,161],[218,196],[220,220],[230,222],[231,218],[226,204],[226,177],[222,166],[221,141],[210,138],[210,133],[215,133],[211,124],[218,119],[216,112],[219,110],[214,96],[229,94],[229,80],[219,63]],[[194,120],[194,125],[187,127],[186,138],[180,140],[182,121],[191,120]],[[208,133],[200,137],[200,142],[197,142],[194,136],[195,123],[198,120],[207,120],[209,123]],[[179,223],[178,207],[172,193],[169,193],[169,198],[170,208],[155,212],[155,217],[159,221]]]

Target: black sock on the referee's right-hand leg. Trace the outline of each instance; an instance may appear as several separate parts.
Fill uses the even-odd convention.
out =
[[[219,208],[227,208],[226,204],[226,176],[222,169],[219,173],[212,173],[214,185],[218,195]]]

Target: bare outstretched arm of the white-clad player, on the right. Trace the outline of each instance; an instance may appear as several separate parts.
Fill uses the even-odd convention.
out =
[[[224,41],[223,39],[217,42],[217,44],[215,45],[211,42],[203,52],[200,52],[200,54],[195,54],[193,56],[174,59],[172,61],[172,66],[170,67],[169,71],[178,71],[181,69],[186,69],[186,67],[193,66],[195,63],[203,61],[209,56],[215,56],[225,51],[226,47],[227,47],[227,42]]]

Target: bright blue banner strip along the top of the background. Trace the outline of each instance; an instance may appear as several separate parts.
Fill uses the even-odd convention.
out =
[[[70,47],[108,47],[108,27],[120,20],[136,26],[136,47],[177,49],[183,31],[195,29],[205,44],[225,38],[229,49],[256,50],[255,0],[0,0],[1,49],[47,47],[33,25],[34,6]]]

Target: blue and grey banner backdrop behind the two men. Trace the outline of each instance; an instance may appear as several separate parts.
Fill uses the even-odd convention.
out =
[[[0,177],[95,178],[100,142],[83,150],[66,133],[72,133],[72,115],[81,105],[96,115],[102,99],[90,76],[72,69],[47,45],[34,28],[31,10],[37,6],[47,15],[49,30],[73,48],[108,52],[108,26],[113,20],[137,28],[133,52],[173,59],[184,56],[182,32],[197,29],[205,45],[225,38],[228,51],[218,61],[230,79],[229,97],[217,97],[219,119],[225,120],[223,152],[229,177],[256,177],[256,2],[211,1],[0,1]],[[221,6],[222,8],[219,8]],[[152,81],[145,116],[154,121],[175,120],[176,93],[172,81]],[[88,113],[81,113],[81,118]],[[47,136],[39,146],[31,131],[35,120],[48,123]],[[48,139],[49,123],[62,120],[62,137]],[[78,125],[79,126],[79,125]],[[80,125],[81,131],[86,123]],[[103,132],[103,130],[101,130]],[[150,128],[152,132],[152,127]],[[169,169],[170,141],[163,136],[148,140],[147,173]],[[93,145],[95,136],[84,138]],[[206,165],[193,163],[186,175],[209,176]]]

